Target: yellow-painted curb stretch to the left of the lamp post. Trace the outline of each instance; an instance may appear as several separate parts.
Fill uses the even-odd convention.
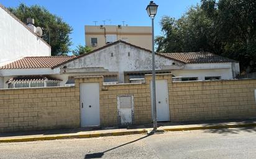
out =
[[[0,143],[4,142],[29,142],[37,140],[57,140],[57,139],[81,139],[90,137],[104,137],[104,136],[117,136],[117,135],[130,135],[130,134],[147,134],[147,130],[137,131],[124,131],[124,132],[105,132],[105,133],[94,133],[94,134],[81,134],[81,135],[54,135],[46,137],[25,137],[25,138],[14,138],[14,139],[0,139]]]

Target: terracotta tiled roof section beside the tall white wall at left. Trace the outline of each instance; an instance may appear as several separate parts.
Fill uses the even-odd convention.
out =
[[[0,69],[40,69],[52,68],[58,64],[75,58],[76,56],[35,56],[25,57],[6,64]]]

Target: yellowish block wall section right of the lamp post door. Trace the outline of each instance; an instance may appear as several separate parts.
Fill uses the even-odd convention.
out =
[[[255,118],[256,80],[173,82],[171,121]]]

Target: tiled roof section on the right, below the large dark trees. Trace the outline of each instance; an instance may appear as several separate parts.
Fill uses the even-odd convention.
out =
[[[201,64],[201,63],[222,63],[222,62],[237,62],[234,59],[224,58],[217,54],[209,52],[194,52],[194,53],[161,53],[163,56],[185,62],[186,64]]]

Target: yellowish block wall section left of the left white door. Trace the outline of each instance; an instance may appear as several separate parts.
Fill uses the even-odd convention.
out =
[[[0,132],[80,126],[75,87],[0,90]]]

